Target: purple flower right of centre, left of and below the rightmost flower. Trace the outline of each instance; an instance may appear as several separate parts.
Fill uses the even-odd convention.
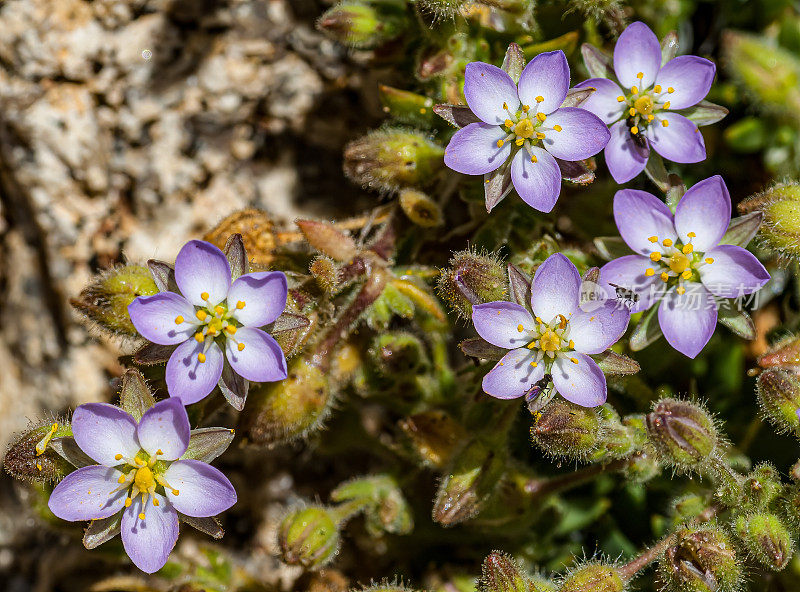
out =
[[[536,270],[531,311],[512,302],[472,308],[483,339],[509,351],[483,379],[483,390],[498,399],[521,397],[547,373],[556,390],[584,407],[606,400],[606,378],[590,354],[604,352],[628,326],[630,313],[606,300],[592,310],[580,306],[581,277],[560,253]]]

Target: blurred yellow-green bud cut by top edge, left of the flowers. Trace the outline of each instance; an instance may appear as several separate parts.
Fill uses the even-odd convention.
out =
[[[373,49],[397,38],[406,25],[401,7],[357,0],[340,2],[317,21],[317,28],[332,39],[360,49]]]

